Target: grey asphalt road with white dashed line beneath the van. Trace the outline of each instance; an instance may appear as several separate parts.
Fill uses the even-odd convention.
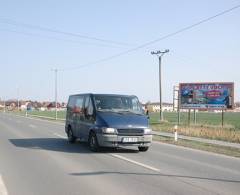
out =
[[[92,153],[63,124],[1,113],[5,194],[240,194],[240,159],[156,142]]]

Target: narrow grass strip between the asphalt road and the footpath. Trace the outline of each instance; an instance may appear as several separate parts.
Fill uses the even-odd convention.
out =
[[[184,147],[188,147],[188,148],[193,148],[193,149],[198,149],[198,150],[203,150],[203,151],[208,151],[208,152],[214,152],[214,153],[218,153],[218,154],[224,154],[224,155],[240,158],[240,149],[238,149],[238,148],[219,146],[219,145],[214,145],[214,144],[207,144],[207,143],[182,140],[182,139],[175,142],[173,140],[173,138],[163,137],[163,136],[154,136],[153,139],[155,141],[159,141],[159,142],[163,142],[163,143],[174,144],[177,146],[184,146]]]

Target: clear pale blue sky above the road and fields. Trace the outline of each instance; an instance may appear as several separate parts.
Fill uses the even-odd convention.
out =
[[[226,9],[236,0],[0,0],[0,98],[53,101],[70,94],[137,95],[172,102],[181,82],[234,82],[240,101],[240,8],[115,58]],[[57,33],[57,32],[64,33]],[[76,34],[78,36],[76,36]]]

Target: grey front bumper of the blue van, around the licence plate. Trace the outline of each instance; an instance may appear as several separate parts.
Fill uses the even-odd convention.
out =
[[[134,138],[134,142],[124,142],[124,138]],[[103,147],[118,146],[150,146],[152,135],[129,136],[129,135],[113,135],[113,134],[97,134],[98,144]],[[137,139],[137,141],[136,141]]]

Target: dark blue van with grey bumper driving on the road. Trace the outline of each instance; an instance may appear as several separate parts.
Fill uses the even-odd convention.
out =
[[[78,94],[68,100],[65,132],[68,141],[89,143],[92,151],[101,147],[137,146],[147,151],[152,130],[136,96]]]

